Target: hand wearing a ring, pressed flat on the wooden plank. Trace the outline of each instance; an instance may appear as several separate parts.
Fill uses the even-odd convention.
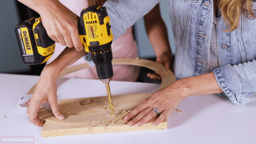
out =
[[[154,92],[150,98],[143,100],[138,107],[134,108],[124,117],[124,120],[131,120],[128,123],[130,126],[141,126],[157,116],[153,111],[154,108],[157,108],[160,115],[153,122],[153,126],[156,126],[164,121],[180,102],[187,97],[188,94],[185,91],[182,83],[178,80],[170,86]]]

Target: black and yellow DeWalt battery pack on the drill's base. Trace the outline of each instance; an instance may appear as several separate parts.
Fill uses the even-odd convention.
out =
[[[32,18],[18,23],[15,27],[15,33],[25,64],[42,64],[52,56],[55,41],[47,35],[41,18]]]

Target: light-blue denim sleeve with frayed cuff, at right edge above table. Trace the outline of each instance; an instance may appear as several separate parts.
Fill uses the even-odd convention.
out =
[[[220,88],[236,105],[249,102],[256,91],[256,60],[236,65],[224,65],[213,71]]]

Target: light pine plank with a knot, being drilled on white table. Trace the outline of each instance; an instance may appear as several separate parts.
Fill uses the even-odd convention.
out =
[[[41,131],[42,137],[167,129],[166,120],[157,126],[152,126],[155,119],[139,127],[124,123],[123,117],[126,112],[137,107],[149,96],[151,93],[113,96],[116,113],[114,117],[110,115],[107,96],[58,100],[61,112],[67,118],[58,120],[51,111],[41,107],[38,116],[46,121]],[[91,101],[91,103],[81,105],[83,101]]]

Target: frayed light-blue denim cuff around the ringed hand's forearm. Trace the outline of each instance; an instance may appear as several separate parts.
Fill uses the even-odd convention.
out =
[[[235,105],[243,105],[250,101],[242,96],[241,83],[236,77],[233,67],[230,64],[213,70],[213,73],[220,88]]]

